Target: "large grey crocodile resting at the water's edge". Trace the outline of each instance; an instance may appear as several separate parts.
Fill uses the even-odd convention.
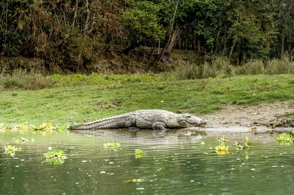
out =
[[[193,114],[175,114],[161,109],[137,110],[109,118],[88,122],[81,125],[71,126],[71,130],[98,129],[182,129],[193,126],[201,126],[207,123]]]

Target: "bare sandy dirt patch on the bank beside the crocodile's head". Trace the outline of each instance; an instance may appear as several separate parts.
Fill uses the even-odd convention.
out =
[[[294,118],[285,114],[294,112],[294,101],[266,103],[258,106],[230,105],[212,115],[203,115],[208,126],[276,126],[294,127]]]

